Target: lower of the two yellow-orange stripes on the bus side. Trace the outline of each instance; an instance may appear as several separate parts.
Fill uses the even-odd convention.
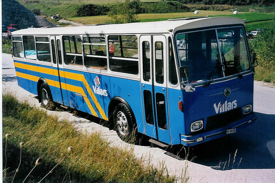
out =
[[[20,72],[17,72],[17,71],[16,71],[16,76],[22,77],[22,78],[25,78],[25,79],[29,79],[29,80],[32,80],[32,81],[35,81],[35,82],[37,82],[38,79],[39,79],[39,77],[37,77],[37,76],[32,76],[30,74],[20,73]],[[47,83],[50,86],[54,86],[54,87],[59,86],[59,82],[57,82],[57,81],[53,81],[53,80],[50,80],[50,79],[45,79],[45,80],[47,81]],[[98,115],[96,114],[96,111],[94,110],[93,106],[91,105],[91,102],[88,100],[88,98],[87,98],[87,96],[86,96],[86,94],[85,94],[82,87],[77,87],[77,86],[65,84],[63,82],[61,82],[61,87],[63,89],[66,89],[66,87],[67,87],[67,88],[69,88],[70,91],[73,91],[75,93],[80,93],[83,96],[84,100],[86,101],[86,103],[87,103],[89,109],[91,110],[92,114],[94,116],[98,117]]]

